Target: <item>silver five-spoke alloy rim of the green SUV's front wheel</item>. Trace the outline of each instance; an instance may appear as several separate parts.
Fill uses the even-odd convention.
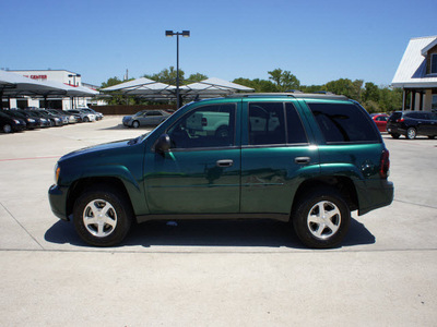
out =
[[[83,225],[97,238],[111,234],[117,227],[117,213],[105,199],[93,199],[83,210]]]

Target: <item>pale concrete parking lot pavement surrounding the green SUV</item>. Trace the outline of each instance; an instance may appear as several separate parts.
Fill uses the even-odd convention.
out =
[[[437,141],[391,140],[391,206],[341,247],[303,249],[274,221],[147,222],[95,249],[50,211],[58,158],[147,130],[121,117],[0,134],[0,326],[435,326]]]

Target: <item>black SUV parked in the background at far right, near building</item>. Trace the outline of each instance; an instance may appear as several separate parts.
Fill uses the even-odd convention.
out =
[[[417,135],[425,135],[429,138],[437,136],[437,113],[432,111],[394,111],[388,122],[387,132],[399,138],[404,135],[413,140]]]

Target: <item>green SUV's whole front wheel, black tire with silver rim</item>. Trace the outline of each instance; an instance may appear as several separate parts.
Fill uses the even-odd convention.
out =
[[[129,232],[132,217],[126,196],[107,185],[82,193],[73,208],[75,231],[83,241],[95,246],[119,244]]]

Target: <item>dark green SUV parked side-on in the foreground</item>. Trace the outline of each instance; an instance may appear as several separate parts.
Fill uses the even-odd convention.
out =
[[[351,211],[389,205],[389,152],[368,113],[343,96],[252,94],[194,101],[150,134],[70,153],[51,210],[88,244],[111,246],[132,222],[269,218],[310,247],[332,247]]]

